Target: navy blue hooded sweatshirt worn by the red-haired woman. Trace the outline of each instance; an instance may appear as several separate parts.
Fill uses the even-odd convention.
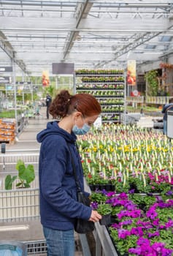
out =
[[[47,123],[47,129],[39,132],[36,139],[42,143],[39,154],[41,223],[56,230],[73,229],[76,218],[89,219],[92,211],[90,207],[77,202],[77,187],[69,153],[70,148],[83,191],[82,166],[75,146],[77,137],[53,121]]]

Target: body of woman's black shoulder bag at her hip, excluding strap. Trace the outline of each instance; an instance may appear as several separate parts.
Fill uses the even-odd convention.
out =
[[[77,192],[77,200],[80,203],[83,203],[85,206],[90,206],[90,200],[86,197],[82,192]],[[77,233],[88,233],[94,230],[94,223],[85,220],[85,219],[77,219],[74,230]]]

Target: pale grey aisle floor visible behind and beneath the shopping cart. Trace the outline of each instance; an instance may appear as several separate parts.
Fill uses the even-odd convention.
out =
[[[52,121],[51,118],[48,121]],[[47,118],[46,118],[46,108],[41,108],[40,116],[36,116],[35,118],[28,119],[28,124],[26,125],[23,132],[18,135],[14,144],[7,143],[6,144],[6,154],[38,154],[40,144],[36,141],[36,134],[45,129],[47,125]],[[37,171],[37,170],[36,170]],[[19,222],[18,222],[19,224]],[[44,241],[45,238],[42,234],[42,227],[38,220],[34,220],[28,223],[29,224],[29,231],[27,235],[23,236],[23,232],[15,232],[12,231],[9,235],[9,232],[0,233],[0,240],[21,240],[28,239],[28,241]],[[11,225],[11,223],[3,223],[4,225]],[[25,232],[25,231],[24,231]],[[26,238],[27,237],[27,238]],[[28,244],[28,241],[26,243]],[[76,241],[76,252],[75,256],[82,256],[82,249],[80,246],[80,238],[77,234],[75,234],[75,241]],[[40,245],[39,245],[40,246]],[[34,254],[36,255],[36,254]],[[40,255],[40,252],[39,254]],[[45,254],[42,254],[42,256]]]

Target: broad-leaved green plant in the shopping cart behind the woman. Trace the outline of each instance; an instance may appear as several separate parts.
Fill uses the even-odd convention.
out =
[[[12,189],[13,182],[18,179],[19,182],[16,184],[17,188],[30,187],[31,181],[34,181],[35,172],[33,165],[26,165],[22,160],[18,160],[16,164],[16,170],[18,170],[18,176],[7,175],[5,178],[5,189]]]

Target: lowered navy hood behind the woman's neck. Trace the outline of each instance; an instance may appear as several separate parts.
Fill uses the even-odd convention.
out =
[[[71,134],[66,132],[64,129],[61,129],[58,126],[58,121],[52,121],[47,123],[47,128],[43,129],[42,132],[39,132],[36,135],[36,140],[39,143],[42,143],[43,140],[49,135],[61,135],[67,142],[74,143],[77,140],[77,136],[74,135],[74,132]]]

